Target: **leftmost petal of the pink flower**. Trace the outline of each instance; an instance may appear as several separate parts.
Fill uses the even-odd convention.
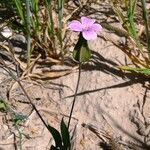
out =
[[[68,27],[72,31],[82,31],[82,24],[77,20],[71,21]]]

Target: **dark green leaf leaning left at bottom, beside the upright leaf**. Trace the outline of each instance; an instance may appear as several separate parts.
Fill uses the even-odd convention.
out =
[[[54,138],[56,147],[61,148],[62,147],[62,139],[61,139],[61,135],[60,135],[59,131],[57,131],[55,128],[53,128],[50,125],[48,125],[48,129]]]

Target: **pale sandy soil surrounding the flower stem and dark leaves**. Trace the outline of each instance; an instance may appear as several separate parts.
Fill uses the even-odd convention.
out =
[[[73,39],[76,38],[76,34],[71,34]],[[118,66],[130,61],[119,48],[102,36],[125,40],[125,37],[103,29],[96,40],[89,41],[92,58],[82,66],[71,120],[73,149],[149,150],[149,79],[118,69]],[[21,83],[44,120],[59,130],[62,117],[68,122],[78,69],[76,65],[73,67],[68,63],[63,66],[52,65],[49,69],[55,70],[56,74],[58,70],[65,69],[71,69],[71,72],[47,80],[26,78]],[[10,107],[7,113],[0,112],[0,150],[20,149],[19,132],[10,121],[14,113],[27,116],[19,126],[22,149],[50,149],[54,144],[51,134],[28,103],[19,85],[2,68],[0,83],[0,98]]]

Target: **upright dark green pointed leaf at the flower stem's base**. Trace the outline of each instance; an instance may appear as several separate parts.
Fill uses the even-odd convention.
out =
[[[67,150],[70,147],[70,135],[63,118],[61,120],[61,135],[63,141],[63,148]]]

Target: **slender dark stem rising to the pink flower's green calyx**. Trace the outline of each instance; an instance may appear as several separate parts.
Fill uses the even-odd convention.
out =
[[[72,103],[72,107],[71,107],[71,111],[70,111],[70,115],[69,115],[68,129],[69,129],[69,126],[70,126],[70,122],[71,122],[71,118],[72,118],[72,113],[73,113],[73,109],[74,109],[74,105],[75,105],[75,101],[76,101],[76,97],[77,97],[77,92],[78,92],[78,88],[79,88],[79,82],[80,82],[80,76],[81,76],[81,66],[82,66],[82,63],[79,63],[78,80],[77,80],[76,90],[75,90],[75,94],[74,94],[74,98],[73,98],[73,103]]]

